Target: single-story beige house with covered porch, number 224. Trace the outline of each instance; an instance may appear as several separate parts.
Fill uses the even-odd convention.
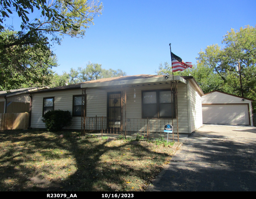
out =
[[[32,128],[45,128],[44,113],[58,109],[72,113],[72,125],[67,129],[88,129],[94,125],[112,132],[121,129],[163,133],[164,125],[173,122],[174,132],[178,127],[179,133],[189,134],[202,126],[204,93],[192,76],[120,76],[30,94]]]

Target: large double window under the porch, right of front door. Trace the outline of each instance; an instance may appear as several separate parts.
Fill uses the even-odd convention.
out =
[[[171,90],[142,91],[142,118],[175,118],[175,104]]]

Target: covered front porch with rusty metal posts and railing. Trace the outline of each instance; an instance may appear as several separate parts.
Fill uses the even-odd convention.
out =
[[[164,137],[164,125],[174,126],[173,135],[188,133],[187,80],[181,76],[142,78],[81,84],[81,134],[101,133],[149,138]],[[103,93],[106,108],[100,115],[88,116],[86,96],[95,90]],[[94,92],[95,92],[94,91]],[[153,98],[156,103],[153,103]],[[88,98],[88,96],[87,96]],[[146,99],[148,98],[148,99]],[[162,100],[162,101],[161,101]],[[181,106],[178,106],[181,104]],[[181,111],[181,116],[178,113]],[[179,119],[178,119],[179,118]],[[179,124],[182,126],[179,127]]]

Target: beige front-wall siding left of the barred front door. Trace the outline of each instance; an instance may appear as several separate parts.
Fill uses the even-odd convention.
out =
[[[70,111],[72,113],[73,95],[81,95],[82,89],[54,91],[32,94],[31,127],[45,128],[43,123],[43,98],[54,97],[54,110]],[[86,116],[106,116],[106,91],[87,89]],[[67,129],[81,129],[81,117],[72,117],[72,125]]]

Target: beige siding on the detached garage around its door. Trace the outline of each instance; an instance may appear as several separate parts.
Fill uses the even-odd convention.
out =
[[[250,121],[251,121],[251,125],[253,125],[253,122],[252,122],[252,103],[251,103],[250,100],[245,99],[245,101],[242,101],[242,98],[240,98],[240,97],[231,96],[231,95],[228,95],[228,94],[225,94],[225,93],[220,93],[220,92],[217,92],[217,91],[202,96],[202,104],[220,104],[220,106],[223,106],[221,104],[234,104],[234,103],[239,103],[241,105],[242,104],[247,105],[249,103]],[[244,106],[244,107],[247,110],[246,112],[248,113],[248,108],[247,108],[248,106]]]

